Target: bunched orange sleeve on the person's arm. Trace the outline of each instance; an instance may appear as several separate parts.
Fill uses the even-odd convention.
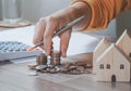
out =
[[[131,9],[131,0],[73,0],[83,1],[92,9],[91,23],[85,30],[104,29],[121,11]]]

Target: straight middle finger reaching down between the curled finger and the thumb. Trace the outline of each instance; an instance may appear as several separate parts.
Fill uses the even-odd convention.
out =
[[[52,36],[53,32],[57,30],[58,21],[53,17],[49,17],[47,21],[47,26],[44,34],[44,49],[46,52],[46,55],[50,55],[50,52],[52,50]]]

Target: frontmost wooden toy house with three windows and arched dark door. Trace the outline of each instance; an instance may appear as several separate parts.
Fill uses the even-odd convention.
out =
[[[130,81],[131,64],[121,51],[111,44],[98,58],[96,64],[97,81]]]

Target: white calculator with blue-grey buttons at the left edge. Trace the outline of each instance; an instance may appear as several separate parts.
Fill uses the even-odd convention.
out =
[[[29,46],[19,41],[0,41],[0,61],[35,56],[41,51],[26,51]]]

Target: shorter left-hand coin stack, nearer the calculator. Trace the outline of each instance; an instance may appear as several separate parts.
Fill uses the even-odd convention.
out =
[[[47,56],[45,53],[40,53],[36,57],[37,65],[46,65],[47,64]]]

